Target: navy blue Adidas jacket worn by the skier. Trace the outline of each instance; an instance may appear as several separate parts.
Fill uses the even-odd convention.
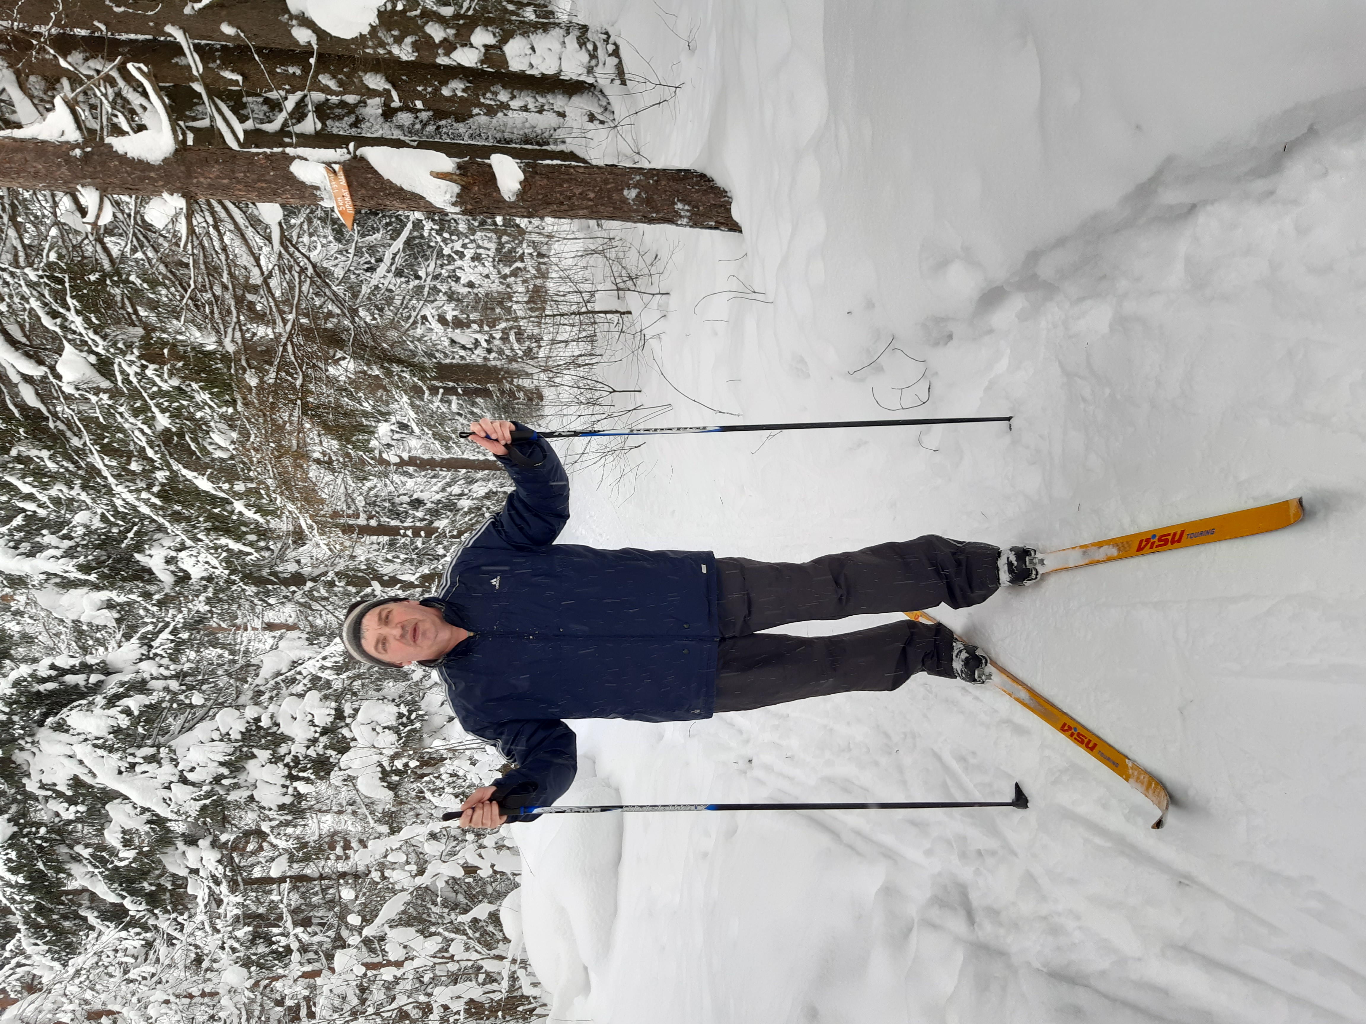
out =
[[[555,803],[574,781],[564,718],[709,718],[716,700],[716,558],[710,552],[553,543],[570,481],[545,441],[500,459],[516,490],[451,560],[423,603],[473,636],[438,664],[460,726],[516,767],[493,799]]]

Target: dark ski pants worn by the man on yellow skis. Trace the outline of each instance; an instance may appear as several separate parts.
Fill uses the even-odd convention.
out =
[[[953,634],[944,625],[907,618],[835,636],[758,631],[940,603],[977,605],[1000,584],[999,557],[1000,549],[989,543],[929,535],[806,563],[717,558],[716,710],[896,689],[917,672],[952,677]]]

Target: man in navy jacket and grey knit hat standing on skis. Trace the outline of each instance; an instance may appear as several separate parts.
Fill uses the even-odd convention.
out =
[[[456,549],[438,593],[358,601],[342,627],[359,661],[434,666],[464,730],[516,765],[464,801],[462,827],[497,827],[507,811],[564,793],[575,771],[566,718],[691,721],[896,689],[917,672],[981,683],[986,659],[943,625],[906,620],[817,638],[758,631],[966,608],[1003,582],[1037,576],[1030,549],[1003,553],[943,537],[803,564],[557,545],[570,517],[568,478],[545,441],[514,445],[515,427],[470,425],[470,440],[504,464],[516,490]]]

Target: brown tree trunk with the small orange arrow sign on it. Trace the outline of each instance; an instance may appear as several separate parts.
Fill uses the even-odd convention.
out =
[[[72,156],[79,152],[82,156]],[[70,143],[0,139],[0,186],[70,191],[94,186],[116,195],[179,193],[197,199],[279,202],[309,206],[320,201],[313,186],[290,171],[295,157],[232,149],[182,149],[161,164],[120,156],[107,145],[74,150]],[[454,213],[475,217],[555,217],[679,224],[739,231],[729,195],[698,171],[596,167],[571,162],[522,164],[518,199],[499,191],[484,160],[456,165],[459,194]],[[382,177],[369,162],[346,162],[358,210],[440,212],[417,193]]]

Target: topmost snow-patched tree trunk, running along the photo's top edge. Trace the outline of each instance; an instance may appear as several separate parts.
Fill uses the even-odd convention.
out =
[[[254,46],[313,53],[311,42],[301,42],[292,29],[311,31],[317,51],[376,60],[441,64],[459,72],[464,67],[492,71],[526,70],[542,76],[570,74],[594,78],[617,74],[616,46],[607,33],[583,25],[550,19],[516,20],[501,18],[440,15],[430,7],[410,3],[384,4],[378,25],[350,40],[329,35],[307,18],[291,15],[285,0],[217,0],[212,4],[164,3],[163,0],[11,0],[11,26],[30,31],[51,26],[75,31],[98,29],[108,35],[171,38],[167,25],[186,30],[194,40],[213,42],[250,41]],[[403,10],[403,8],[407,10]],[[449,10],[449,8],[448,8]],[[223,26],[235,31],[225,33]],[[429,27],[430,26],[430,27]],[[497,42],[474,46],[478,29],[492,31]],[[560,45],[555,45],[559,35]],[[440,41],[437,37],[441,37]],[[537,37],[541,46],[534,46]],[[307,40],[307,35],[305,35]],[[570,61],[566,64],[564,57]],[[298,59],[298,56],[295,56]]]

